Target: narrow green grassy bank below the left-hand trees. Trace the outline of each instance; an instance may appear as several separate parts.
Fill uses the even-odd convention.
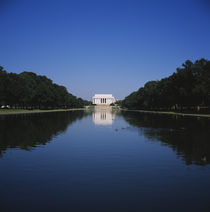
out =
[[[74,111],[74,110],[84,110],[84,108],[55,109],[55,110],[0,109],[0,115],[18,115],[18,114],[30,114],[30,113],[67,112],[67,111]]]

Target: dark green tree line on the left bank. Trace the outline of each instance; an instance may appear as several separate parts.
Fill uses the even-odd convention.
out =
[[[64,86],[33,72],[8,73],[0,66],[0,105],[23,109],[79,108],[89,104]]]

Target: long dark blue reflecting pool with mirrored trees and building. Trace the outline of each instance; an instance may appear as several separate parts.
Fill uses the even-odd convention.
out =
[[[0,211],[210,211],[210,119],[0,117]]]

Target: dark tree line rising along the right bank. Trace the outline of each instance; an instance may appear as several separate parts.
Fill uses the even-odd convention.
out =
[[[210,61],[187,60],[171,76],[149,81],[122,102],[122,107],[148,110],[210,108]]]

